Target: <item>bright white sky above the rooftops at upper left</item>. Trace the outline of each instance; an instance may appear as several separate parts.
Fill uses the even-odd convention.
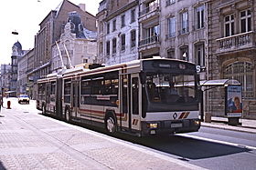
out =
[[[34,47],[39,24],[62,0],[6,0],[0,2],[0,64],[11,63],[12,46],[19,41],[23,50]],[[98,12],[101,0],[69,0],[85,4],[91,15]],[[16,31],[18,35],[13,35]]]

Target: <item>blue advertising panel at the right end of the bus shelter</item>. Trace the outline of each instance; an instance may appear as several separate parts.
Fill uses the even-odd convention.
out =
[[[226,90],[226,115],[228,117],[240,117],[242,114],[241,86],[228,85]]]

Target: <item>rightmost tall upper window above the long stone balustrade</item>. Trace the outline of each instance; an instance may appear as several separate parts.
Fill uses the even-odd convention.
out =
[[[251,10],[240,12],[240,32],[246,33],[251,31]]]

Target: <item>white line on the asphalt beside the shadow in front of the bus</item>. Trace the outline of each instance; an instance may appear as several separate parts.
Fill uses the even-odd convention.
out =
[[[219,141],[216,139],[200,137],[200,136],[196,136],[196,135],[188,135],[188,134],[177,134],[177,135],[180,135],[183,137],[189,137],[189,138],[193,138],[193,139],[198,139],[198,140],[203,140],[203,141],[208,141],[208,142],[214,142],[214,143],[219,143],[219,144],[224,144],[224,145],[233,145],[233,146],[237,146],[237,147],[244,147],[247,149],[256,150],[256,147],[251,146],[251,145],[240,145],[240,144],[235,144],[235,143],[230,143],[230,142],[225,142],[225,141]]]

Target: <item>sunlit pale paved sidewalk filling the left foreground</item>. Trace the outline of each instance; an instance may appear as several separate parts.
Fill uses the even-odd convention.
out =
[[[0,169],[203,169],[10,100],[0,113]]]

